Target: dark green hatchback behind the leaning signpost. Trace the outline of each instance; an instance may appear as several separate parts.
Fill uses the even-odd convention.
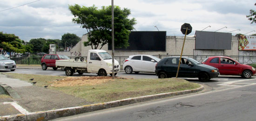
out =
[[[168,57],[160,60],[155,66],[155,74],[158,78],[176,77],[180,57]],[[202,64],[192,58],[182,57],[178,77],[198,78],[202,82],[217,78],[219,70]]]

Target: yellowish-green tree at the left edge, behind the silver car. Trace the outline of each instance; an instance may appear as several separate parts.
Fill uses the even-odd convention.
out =
[[[4,34],[0,32],[0,54],[7,52],[25,53],[26,49],[21,44],[21,40],[14,34]]]

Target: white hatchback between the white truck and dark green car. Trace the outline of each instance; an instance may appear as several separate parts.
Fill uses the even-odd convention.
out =
[[[130,55],[123,64],[125,73],[152,72],[155,73],[155,65],[161,60],[152,55]]]

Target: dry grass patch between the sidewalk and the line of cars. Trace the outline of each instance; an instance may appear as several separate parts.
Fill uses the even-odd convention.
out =
[[[165,92],[183,91],[199,88],[200,85],[184,79],[109,79],[95,85],[51,86],[64,76],[46,76],[35,74],[5,73],[8,77],[26,80],[34,78],[37,86],[49,85],[48,88],[65,92],[76,97],[85,98],[89,102],[102,103],[130,97],[140,97]],[[74,80],[75,81],[75,80]],[[88,80],[83,80],[88,81]],[[96,81],[96,80],[90,80]]]

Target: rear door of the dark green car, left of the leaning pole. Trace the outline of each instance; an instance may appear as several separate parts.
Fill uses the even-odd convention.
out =
[[[177,68],[178,61],[175,57],[168,58],[164,62],[164,70],[166,71],[168,77],[176,77]]]

